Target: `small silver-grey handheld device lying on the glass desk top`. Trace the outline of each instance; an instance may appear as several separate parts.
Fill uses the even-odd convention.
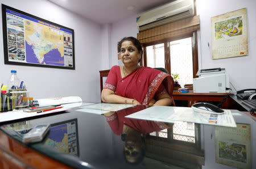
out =
[[[39,142],[42,141],[46,133],[50,128],[49,124],[37,125],[30,130],[30,132],[24,134],[23,143]]]

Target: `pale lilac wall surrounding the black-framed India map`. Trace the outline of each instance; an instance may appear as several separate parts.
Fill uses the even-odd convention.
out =
[[[5,65],[0,24],[0,81],[7,84],[10,70],[17,70],[34,98],[80,96],[100,102],[101,27],[46,0],[6,0],[1,3],[75,30],[75,70]],[[0,19],[2,23],[2,17]]]

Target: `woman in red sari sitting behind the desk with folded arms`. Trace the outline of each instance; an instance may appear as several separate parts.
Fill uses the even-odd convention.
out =
[[[171,105],[174,80],[162,71],[139,67],[141,43],[124,37],[118,49],[124,66],[113,66],[106,79],[101,99],[106,103]]]

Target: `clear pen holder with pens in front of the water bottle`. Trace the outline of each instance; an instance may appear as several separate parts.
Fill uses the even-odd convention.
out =
[[[28,108],[29,102],[29,91],[11,91],[10,92],[11,96],[10,98],[12,99],[12,106],[13,109],[25,109]]]

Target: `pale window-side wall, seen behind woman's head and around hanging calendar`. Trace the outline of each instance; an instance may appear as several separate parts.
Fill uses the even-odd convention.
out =
[[[226,12],[247,9],[247,31],[249,55],[244,57],[224,58],[212,60],[210,18]],[[256,1],[254,0],[196,0],[197,15],[200,15],[200,30],[198,31],[199,69],[224,67],[229,74],[229,80],[236,88],[256,88]],[[111,54],[109,56],[109,68],[117,65],[117,41],[124,36],[137,37],[138,29],[135,21],[136,15],[112,24]],[[210,47],[208,47],[208,42]],[[233,89],[233,87],[230,85]]]

